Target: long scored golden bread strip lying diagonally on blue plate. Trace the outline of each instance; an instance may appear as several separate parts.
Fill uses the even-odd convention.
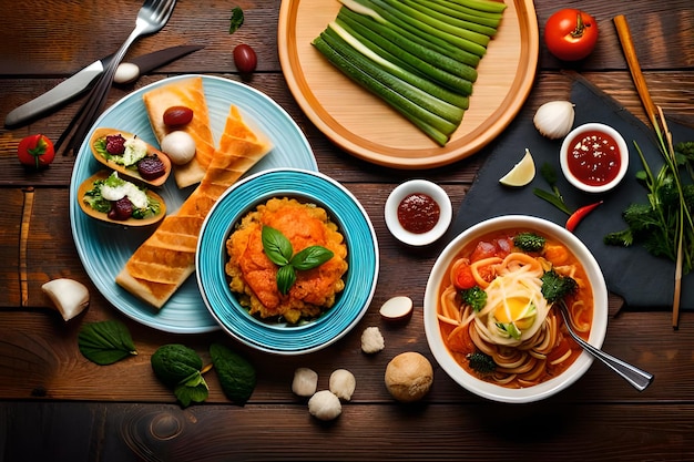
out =
[[[116,276],[116,284],[162,308],[195,270],[197,237],[214,203],[271,148],[271,142],[251,131],[238,109],[232,106],[220,147],[201,184],[135,250]]]

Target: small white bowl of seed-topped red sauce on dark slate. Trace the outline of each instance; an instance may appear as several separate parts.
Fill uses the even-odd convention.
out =
[[[567,179],[589,193],[616,186],[629,164],[624,138],[612,127],[589,123],[567,135],[561,147],[561,168]]]

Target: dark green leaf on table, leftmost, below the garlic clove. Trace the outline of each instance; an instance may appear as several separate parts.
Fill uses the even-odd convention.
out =
[[[85,324],[78,335],[78,346],[86,359],[100,366],[137,355],[127,327],[116,320]]]

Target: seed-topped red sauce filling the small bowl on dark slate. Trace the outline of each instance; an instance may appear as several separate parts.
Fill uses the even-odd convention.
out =
[[[590,131],[571,141],[568,164],[580,182],[601,186],[614,179],[620,171],[620,147],[609,134]]]

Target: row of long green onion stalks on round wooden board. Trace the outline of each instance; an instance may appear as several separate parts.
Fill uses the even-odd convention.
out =
[[[443,146],[470,103],[506,4],[490,0],[339,0],[312,44],[346,76]]]

